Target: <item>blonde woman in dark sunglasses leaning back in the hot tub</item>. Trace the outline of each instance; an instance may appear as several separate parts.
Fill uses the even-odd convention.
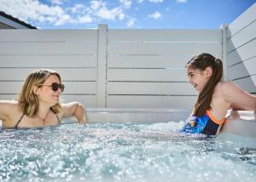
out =
[[[76,117],[86,123],[84,105],[79,102],[60,104],[64,91],[56,71],[40,69],[27,78],[18,100],[0,100],[3,128],[43,128],[58,125],[63,117]]]

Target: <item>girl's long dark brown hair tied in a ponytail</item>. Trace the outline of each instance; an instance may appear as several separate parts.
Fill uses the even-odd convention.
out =
[[[211,54],[202,53],[189,60],[186,67],[199,71],[205,71],[207,67],[212,68],[212,76],[199,94],[193,111],[195,116],[201,117],[207,110],[212,109],[212,94],[218,82],[223,79],[223,64],[221,60]]]

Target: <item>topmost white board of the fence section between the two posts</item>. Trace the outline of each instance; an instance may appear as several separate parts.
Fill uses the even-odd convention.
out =
[[[108,41],[221,42],[221,30],[108,30]]]

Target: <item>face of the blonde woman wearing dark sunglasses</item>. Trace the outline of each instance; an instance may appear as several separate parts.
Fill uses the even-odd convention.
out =
[[[49,106],[53,106],[59,103],[59,98],[61,95],[61,88],[58,88],[56,91],[52,89],[52,83],[61,83],[59,78],[55,75],[50,75],[45,82],[38,87],[38,100],[40,104],[45,104]]]

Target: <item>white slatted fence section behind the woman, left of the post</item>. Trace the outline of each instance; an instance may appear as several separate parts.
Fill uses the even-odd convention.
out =
[[[38,68],[60,71],[64,100],[96,105],[97,31],[0,31],[0,99],[20,93],[27,74]]]

